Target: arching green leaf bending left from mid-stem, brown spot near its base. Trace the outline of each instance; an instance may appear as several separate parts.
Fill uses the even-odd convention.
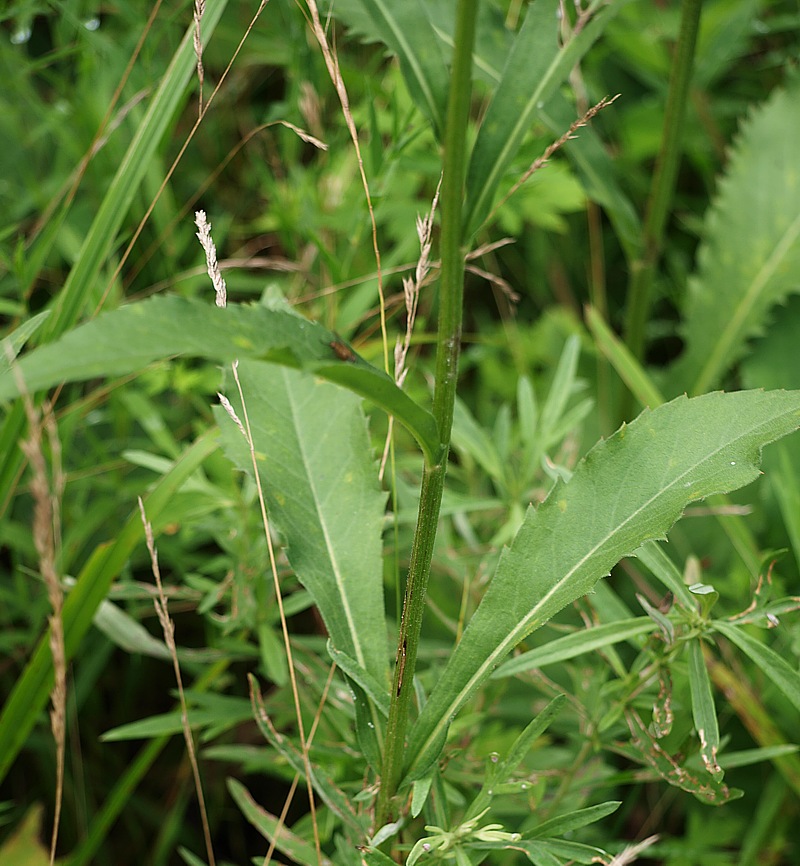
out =
[[[344,359],[334,343],[343,347]],[[197,299],[157,296],[86,322],[25,355],[17,369],[33,392],[62,382],[136,373],[176,355],[220,363],[261,358],[313,372],[394,415],[419,439],[429,459],[438,453],[439,436],[429,412],[331,331],[288,307],[231,304],[220,309]],[[0,402],[18,394],[12,373],[0,374]]]

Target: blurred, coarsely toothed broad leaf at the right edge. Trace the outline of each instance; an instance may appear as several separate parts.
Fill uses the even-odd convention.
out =
[[[676,389],[714,387],[775,304],[800,291],[798,140],[798,83],[742,124],[689,284],[686,349],[668,376]]]

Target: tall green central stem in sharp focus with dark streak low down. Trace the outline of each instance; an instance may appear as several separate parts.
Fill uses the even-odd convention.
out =
[[[422,615],[431,570],[433,546],[444,490],[453,407],[461,348],[461,316],[464,297],[464,250],[462,249],[462,202],[466,167],[467,122],[472,93],[472,45],[478,0],[459,0],[456,9],[453,66],[444,141],[442,177],[441,274],[439,282],[439,326],[433,415],[439,429],[438,459],[426,461],[422,477],[419,513],[411,563],[403,599],[397,642],[389,720],[386,727],[381,787],[376,806],[376,826],[392,813],[392,799],[403,771],[405,732],[417,663]]]

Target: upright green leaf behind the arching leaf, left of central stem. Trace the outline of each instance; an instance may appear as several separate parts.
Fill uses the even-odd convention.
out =
[[[333,645],[367,672],[376,689],[388,692],[381,543],[386,496],[361,400],[274,364],[242,361],[238,369],[246,416],[233,381],[227,391],[237,416],[249,420],[272,526]],[[244,437],[221,408],[216,415],[226,453],[252,475]],[[377,763],[375,737],[383,718],[362,690],[356,692],[359,738]]]

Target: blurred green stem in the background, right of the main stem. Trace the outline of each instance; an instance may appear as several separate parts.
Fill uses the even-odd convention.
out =
[[[661,149],[656,160],[653,183],[644,222],[642,257],[631,264],[625,342],[634,357],[644,354],[644,331],[650,314],[656,265],[661,257],[664,226],[672,203],[675,177],[681,154],[686,102],[694,65],[702,0],[683,0],[681,28],[669,79]]]

